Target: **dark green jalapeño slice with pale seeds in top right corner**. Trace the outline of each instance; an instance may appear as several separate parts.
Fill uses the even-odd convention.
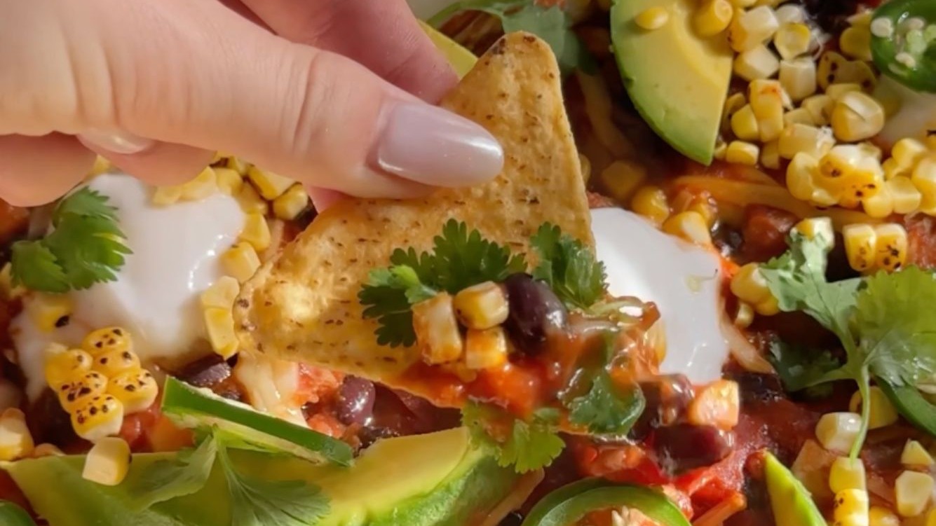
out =
[[[874,65],[890,78],[917,92],[936,92],[936,44],[930,45],[921,55],[914,56],[916,64],[910,67],[897,60],[906,38],[900,35],[901,22],[911,18],[936,23],[936,2],[932,0],[891,0],[874,11],[873,18],[888,19],[893,23],[894,35],[890,37],[871,35],[871,56]]]

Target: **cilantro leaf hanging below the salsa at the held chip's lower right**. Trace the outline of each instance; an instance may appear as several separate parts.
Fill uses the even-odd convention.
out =
[[[645,405],[639,387],[622,390],[602,368],[592,379],[588,393],[569,403],[569,420],[587,426],[592,434],[627,434]]]

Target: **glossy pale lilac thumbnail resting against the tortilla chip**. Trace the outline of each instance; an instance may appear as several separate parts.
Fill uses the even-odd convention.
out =
[[[390,109],[377,163],[423,184],[468,186],[501,172],[504,149],[475,122],[441,107],[400,103]]]

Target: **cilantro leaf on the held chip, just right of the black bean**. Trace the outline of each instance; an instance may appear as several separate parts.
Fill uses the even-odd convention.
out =
[[[545,281],[566,306],[588,310],[605,296],[605,264],[584,243],[549,223],[530,242],[540,259],[533,277]]]

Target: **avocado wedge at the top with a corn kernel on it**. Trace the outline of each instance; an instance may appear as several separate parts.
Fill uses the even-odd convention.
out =
[[[724,34],[695,33],[698,6],[698,0],[614,0],[611,41],[624,87],[644,121],[686,157],[709,164],[733,53]],[[634,19],[651,7],[664,7],[669,21],[647,31]]]

